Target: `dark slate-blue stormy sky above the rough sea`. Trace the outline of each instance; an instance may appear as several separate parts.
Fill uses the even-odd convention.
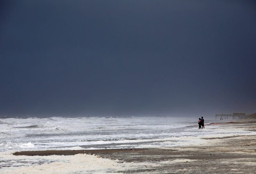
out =
[[[0,3],[0,116],[256,112],[256,2]]]

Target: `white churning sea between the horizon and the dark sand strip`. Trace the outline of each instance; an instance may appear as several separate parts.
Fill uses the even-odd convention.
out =
[[[249,134],[233,125],[205,125],[204,130],[198,130],[193,122],[180,121],[181,118],[174,117],[4,119],[0,127],[0,151],[74,146],[84,149],[172,147],[197,145],[197,139]],[[207,143],[199,144],[203,142]]]

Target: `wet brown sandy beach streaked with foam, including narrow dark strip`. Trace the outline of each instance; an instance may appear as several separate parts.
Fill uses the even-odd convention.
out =
[[[256,131],[255,122],[222,123]],[[202,130],[203,131],[203,130]],[[157,163],[160,161],[188,160],[187,163],[127,170],[124,173],[256,173],[256,136],[208,138],[200,146],[179,146],[162,149],[104,149],[104,150],[50,150],[24,151],[14,155],[75,155],[95,154],[121,162]]]

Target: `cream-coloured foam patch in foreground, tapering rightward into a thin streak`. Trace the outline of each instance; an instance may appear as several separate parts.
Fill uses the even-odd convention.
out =
[[[174,159],[158,162],[124,162],[101,158],[97,155],[76,154],[68,156],[14,156],[14,151],[1,152],[0,161],[5,166],[0,173],[122,173],[124,171],[151,170],[176,163],[189,163],[196,160]],[[6,165],[7,164],[7,165]],[[1,163],[0,163],[1,165]]]

